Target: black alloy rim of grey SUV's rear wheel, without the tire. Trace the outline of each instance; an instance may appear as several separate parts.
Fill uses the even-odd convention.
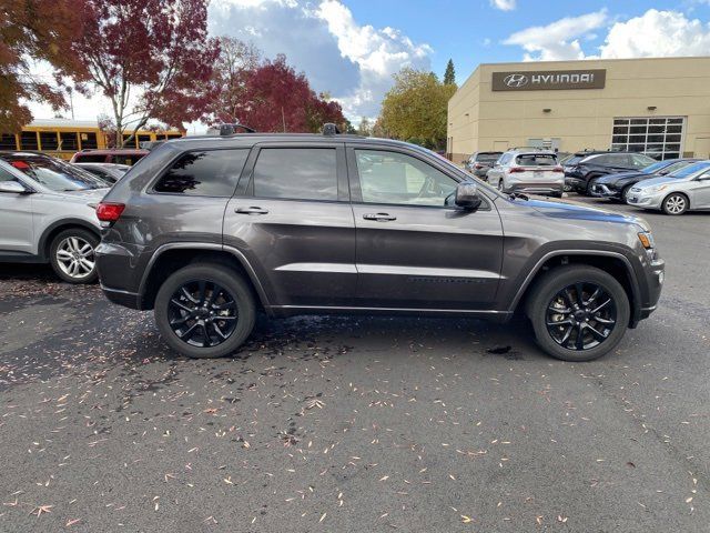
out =
[[[212,348],[226,341],[239,321],[234,296],[213,281],[193,280],[181,285],[168,306],[170,328],[183,342]]]

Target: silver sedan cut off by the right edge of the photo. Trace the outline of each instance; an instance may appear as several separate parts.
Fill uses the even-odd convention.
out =
[[[710,210],[710,161],[637,183],[629,191],[628,204],[666,214]]]

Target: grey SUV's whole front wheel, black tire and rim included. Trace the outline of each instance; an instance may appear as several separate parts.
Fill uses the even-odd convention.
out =
[[[552,358],[570,362],[592,361],[612,350],[626,333],[630,313],[621,284],[604,270],[587,265],[545,273],[532,286],[527,304],[538,345]]]

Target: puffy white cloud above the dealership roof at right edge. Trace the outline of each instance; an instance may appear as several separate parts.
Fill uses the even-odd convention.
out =
[[[649,9],[640,17],[615,23],[599,51],[602,58],[707,56],[710,24],[689,20],[678,11]]]

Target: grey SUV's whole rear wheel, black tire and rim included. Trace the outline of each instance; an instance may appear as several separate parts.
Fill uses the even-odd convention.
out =
[[[240,274],[226,266],[197,263],[165,280],[155,298],[154,314],[161,335],[174,351],[194,359],[222,358],[252,333],[256,304]]]

